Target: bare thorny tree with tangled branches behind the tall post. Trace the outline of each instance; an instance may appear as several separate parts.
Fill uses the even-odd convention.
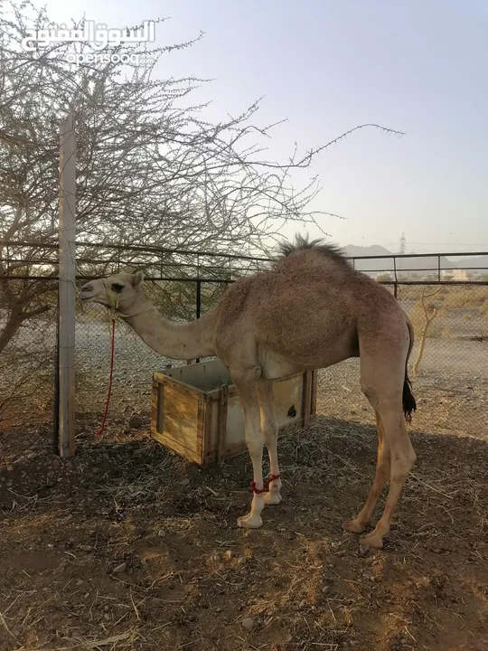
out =
[[[276,125],[254,123],[258,102],[211,124],[202,118],[204,107],[192,103],[204,80],[157,78],[157,61],[194,41],[151,52],[140,43],[110,49],[119,56],[150,54],[151,61],[137,66],[70,63],[69,52],[91,52],[87,43],[24,51],[27,30],[52,26],[28,2],[0,6],[0,353],[22,324],[49,308],[45,297],[54,281],[21,278],[35,269],[46,273],[39,265],[55,261],[56,251],[42,246],[57,241],[59,124],[69,110],[78,141],[78,239],[185,250],[267,253],[284,223],[315,223],[319,214],[311,208],[316,179],[296,190],[293,169],[309,166],[357,129],[399,133],[361,125],[303,156],[295,150],[286,162],[273,162],[261,143]],[[40,246],[7,264],[5,242],[13,240]],[[108,259],[108,251],[84,250],[85,259],[104,255]],[[54,278],[57,269],[51,269]],[[19,279],[7,280],[13,275]]]

